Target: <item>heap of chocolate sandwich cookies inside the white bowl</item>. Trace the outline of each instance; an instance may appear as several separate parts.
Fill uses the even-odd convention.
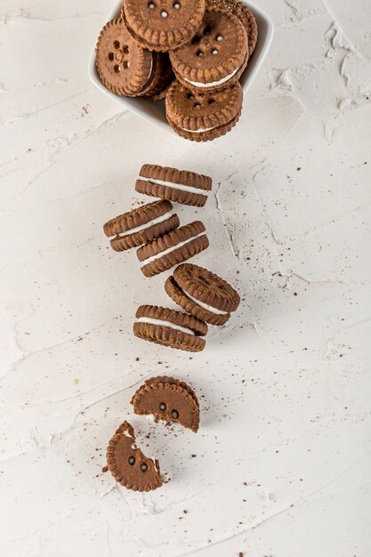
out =
[[[210,141],[238,122],[238,79],[257,35],[238,0],[123,0],[120,17],[101,30],[96,67],[112,93],[165,99],[176,133]]]

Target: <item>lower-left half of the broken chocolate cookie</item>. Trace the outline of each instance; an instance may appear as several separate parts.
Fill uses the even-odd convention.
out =
[[[109,440],[107,466],[115,480],[133,491],[150,491],[162,486],[157,460],[147,458],[137,448],[133,427],[124,422]]]

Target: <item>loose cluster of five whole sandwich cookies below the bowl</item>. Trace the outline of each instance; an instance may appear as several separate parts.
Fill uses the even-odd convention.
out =
[[[106,222],[103,230],[112,248],[122,252],[138,247],[145,277],[153,277],[179,264],[165,281],[165,292],[186,311],[141,305],[136,312],[134,335],[153,343],[185,351],[202,351],[207,323],[222,326],[236,311],[239,295],[214,273],[185,263],[209,246],[202,222],[180,226],[171,201],[204,206],[212,179],[203,174],[167,166],[143,165],[135,189],[160,198]]]

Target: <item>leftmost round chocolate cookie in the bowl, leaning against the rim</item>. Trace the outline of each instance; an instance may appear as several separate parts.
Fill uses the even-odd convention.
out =
[[[96,68],[101,82],[118,95],[140,93],[153,69],[153,54],[141,48],[125,28],[124,20],[109,21],[96,45]]]

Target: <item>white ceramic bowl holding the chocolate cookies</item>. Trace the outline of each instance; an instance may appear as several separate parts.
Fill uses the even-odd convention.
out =
[[[273,38],[273,23],[270,17],[263,12],[260,8],[252,4],[251,2],[246,2],[242,0],[248,8],[254,12],[254,16],[259,28],[258,42],[256,44],[255,50],[248,61],[247,68],[240,78],[242,88],[244,90],[244,95],[250,86],[254,82],[254,78],[257,76],[259,69],[262,67],[262,62],[264,61],[269,49],[270,43]],[[117,0],[115,9],[109,13],[107,21],[113,20],[119,17],[121,12],[121,0]],[[102,22],[102,26],[105,22]],[[103,93],[106,93],[119,102],[124,110],[130,110],[133,114],[145,118],[146,120],[152,121],[154,124],[160,125],[167,132],[174,133],[170,125],[167,124],[165,117],[165,101],[150,101],[149,99],[144,99],[141,97],[136,97],[130,99],[129,97],[120,97],[114,93],[110,93],[108,89],[101,83],[101,79],[98,76],[98,72],[95,68],[95,47],[93,48],[92,55],[89,61],[88,74],[93,84],[101,89]]]

